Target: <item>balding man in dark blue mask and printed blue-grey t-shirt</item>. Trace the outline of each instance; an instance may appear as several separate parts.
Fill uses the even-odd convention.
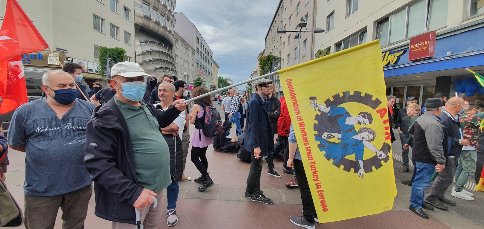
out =
[[[94,104],[76,99],[74,78],[59,70],[42,77],[46,97],[18,107],[8,131],[12,149],[25,152],[25,227],[84,228],[92,186],[84,167],[86,123]],[[35,117],[35,118],[32,118]]]

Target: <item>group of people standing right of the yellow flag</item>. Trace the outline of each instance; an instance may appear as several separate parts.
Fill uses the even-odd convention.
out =
[[[395,102],[396,97],[387,97],[389,109]],[[392,120],[391,112],[389,115]],[[410,171],[408,149],[412,148],[413,175],[401,182],[411,186],[408,208],[416,215],[428,218],[422,208],[432,211],[455,206],[455,201],[444,195],[453,184],[454,177],[451,196],[474,200],[474,194],[464,189],[464,185],[472,177],[477,184],[481,177],[484,164],[483,118],[482,100],[469,102],[459,97],[447,100],[447,95],[437,93],[435,98],[425,100],[421,109],[417,98],[406,99],[406,106],[396,114],[394,128],[398,130],[402,144],[402,168],[398,172]],[[431,185],[425,196],[424,190]]]

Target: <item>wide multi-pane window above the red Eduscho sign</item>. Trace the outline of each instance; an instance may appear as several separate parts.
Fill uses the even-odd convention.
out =
[[[448,0],[419,0],[377,23],[377,39],[387,46],[447,25]]]

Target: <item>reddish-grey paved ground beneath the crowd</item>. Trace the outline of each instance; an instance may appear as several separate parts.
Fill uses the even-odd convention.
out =
[[[215,104],[215,107],[223,113],[218,103]],[[192,125],[190,127],[190,136],[193,136],[194,130],[195,128]],[[231,129],[231,135],[235,137],[234,128]],[[401,150],[399,150],[401,146],[399,143],[393,143],[393,147],[393,153],[395,155],[401,154]],[[288,189],[285,186],[285,183],[290,181],[292,175],[282,172],[282,161],[274,161],[275,170],[281,174],[281,178],[267,174],[267,164],[263,163],[264,168],[260,186],[264,191],[264,195],[274,201],[274,204],[266,205],[243,198],[245,182],[250,168],[249,163],[244,163],[239,160],[235,153],[215,152],[211,146],[207,150],[207,158],[209,161],[208,171],[211,172],[210,176],[215,185],[208,188],[205,192],[198,192],[197,187],[199,184],[195,183],[193,179],[188,182],[180,182],[180,194],[177,202],[179,222],[173,228],[299,228],[289,221],[289,216],[302,215],[300,193],[297,188]],[[23,207],[25,153],[9,149],[9,159],[10,165],[6,173],[6,183],[14,195],[15,200]],[[460,200],[450,196],[450,194],[446,194],[447,198],[457,202],[457,206],[449,206],[449,211],[441,211],[438,209],[435,211],[426,211],[430,219],[423,219],[410,212],[408,210],[410,186],[402,185],[400,180],[408,179],[411,176],[411,172],[398,172],[401,162],[393,159],[393,163],[398,195],[395,197],[391,211],[378,215],[317,224],[316,228],[411,229],[436,227],[439,229],[482,229],[484,227],[482,213],[484,192],[473,191],[475,193],[474,198],[476,199],[474,201]],[[187,157],[185,174],[192,178],[199,176],[199,172],[190,161],[190,157]],[[94,215],[94,206],[94,196],[92,196],[85,221],[85,228],[110,228],[110,222]],[[159,206],[166,209],[166,199]],[[61,210],[59,210],[55,229],[61,229],[61,214]],[[162,221],[165,222],[166,216],[162,216],[162,218]],[[22,226],[19,228],[23,229],[25,227]],[[133,228],[135,228],[134,225]],[[168,228],[168,226],[163,223],[161,228]]]

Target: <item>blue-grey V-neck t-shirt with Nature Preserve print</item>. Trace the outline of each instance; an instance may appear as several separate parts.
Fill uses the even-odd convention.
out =
[[[94,108],[76,99],[59,119],[42,98],[15,110],[8,141],[13,146],[25,145],[25,195],[55,196],[91,184],[84,152],[86,124]]]

